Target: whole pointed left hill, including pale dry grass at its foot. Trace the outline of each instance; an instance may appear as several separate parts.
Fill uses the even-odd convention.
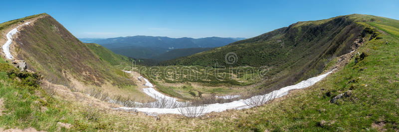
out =
[[[29,21],[14,35],[10,51],[15,60],[26,62],[28,71],[40,74],[44,83],[83,93],[97,89],[110,98],[148,98],[115,67],[121,61],[130,62],[129,58],[97,55],[97,49],[91,50],[50,15],[41,14]]]

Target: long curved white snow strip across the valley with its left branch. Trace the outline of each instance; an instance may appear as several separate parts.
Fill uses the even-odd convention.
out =
[[[131,71],[125,71],[125,72],[131,72]],[[157,114],[183,114],[186,116],[187,113],[185,113],[185,110],[189,110],[188,112],[193,112],[190,110],[199,110],[201,114],[206,114],[206,113],[210,113],[210,112],[222,112],[228,109],[246,109],[246,108],[251,108],[251,107],[255,107],[256,105],[251,105],[251,103],[248,102],[259,102],[261,104],[266,103],[269,100],[272,100],[274,98],[279,98],[282,97],[284,95],[287,95],[288,92],[290,90],[293,89],[302,89],[302,88],[306,88],[309,86],[312,86],[313,84],[315,84],[316,82],[322,80],[324,77],[326,77],[328,74],[330,74],[332,71],[327,72],[325,74],[316,76],[316,77],[312,77],[309,78],[307,80],[301,81],[295,85],[291,85],[291,86],[286,86],[283,87],[279,90],[275,90],[271,93],[265,94],[265,95],[258,95],[258,96],[253,96],[251,98],[248,99],[241,99],[241,100],[237,100],[237,101],[233,101],[233,102],[229,102],[229,103],[216,103],[216,104],[208,104],[208,105],[204,105],[204,106],[190,106],[190,103],[186,103],[186,102],[179,102],[177,101],[176,98],[173,97],[169,97],[166,96],[160,92],[158,92],[157,90],[154,89],[154,85],[149,82],[146,78],[140,76],[139,78],[143,78],[146,81],[146,86],[148,86],[148,88],[144,88],[143,91],[157,99],[157,101],[152,102],[152,103],[159,103],[159,102],[167,102],[165,103],[166,105],[174,105],[176,106],[176,104],[178,106],[181,107],[170,107],[170,108],[165,108],[165,107],[158,107],[158,108],[129,108],[129,107],[120,107],[120,108],[116,108],[116,109],[123,109],[123,110],[137,110],[140,112],[144,112],[147,113],[149,115],[157,115]],[[239,95],[230,95],[230,96],[221,96],[219,98],[236,98]],[[184,110],[185,109],[185,110]],[[187,111],[186,111],[187,112]],[[199,116],[199,115],[198,115]]]

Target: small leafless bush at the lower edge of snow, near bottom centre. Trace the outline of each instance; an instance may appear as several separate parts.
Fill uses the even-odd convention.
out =
[[[197,118],[206,113],[205,106],[203,105],[195,106],[190,104],[186,107],[178,108],[178,110],[183,116],[189,118]]]

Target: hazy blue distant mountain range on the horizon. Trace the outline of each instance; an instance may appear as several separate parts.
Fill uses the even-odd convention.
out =
[[[206,37],[195,39],[187,37],[128,36],[107,39],[82,38],[80,40],[85,43],[100,44],[116,54],[131,58],[165,60],[193,55],[198,52],[209,50],[209,48],[225,46],[243,39],[245,38]],[[171,54],[167,54],[168,57],[160,56],[175,49],[185,50],[174,51]]]

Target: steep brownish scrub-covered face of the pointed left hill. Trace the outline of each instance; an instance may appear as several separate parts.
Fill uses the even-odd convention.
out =
[[[69,73],[89,85],[100,86],[107,81],[134,84],[117,75],[116,68],[101,61],[49,15],[37,19],[34,26],[24,27],[15,41],[19,47],[16,58],[26,60],[29,69],[41,72],[50,82],[68,85],[65,73]]]

